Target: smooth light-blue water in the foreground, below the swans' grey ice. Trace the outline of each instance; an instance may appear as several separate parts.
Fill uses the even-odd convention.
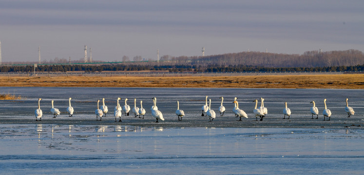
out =
[[[362,174],[363,130],[2,124],[2,174]]]

